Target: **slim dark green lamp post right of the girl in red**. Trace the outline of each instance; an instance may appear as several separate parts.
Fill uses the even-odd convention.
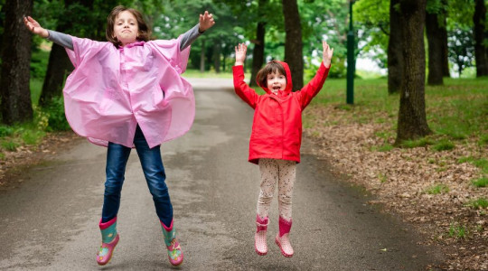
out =
[[[356,70],[356,61],[354,61],[354,31],[352,29],[352,4],[354,0],[349,1],[349,32],[347,33],[347,90],[346,103],[354,104],[354,73]]]

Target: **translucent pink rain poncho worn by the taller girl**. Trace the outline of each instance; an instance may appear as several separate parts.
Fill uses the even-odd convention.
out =
[[[195,102],[186,69],[190,47],[180,39],[111,42],[71,37],[75,69],[66,79],[64,107],[71,128],[97,145],[133,147],[137,124],[149,147],[190,130]]]

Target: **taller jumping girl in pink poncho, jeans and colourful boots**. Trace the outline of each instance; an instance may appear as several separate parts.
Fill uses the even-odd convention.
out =
[[[160,145],[192,126],[192,86],[180,74],[186,69],[189,45],[215,23],[212,14],[201,14],[200,23],[170,41],[150,41],[151,31],[142,14],[121,5],[108,15],[108,42],[46,30],[32,17],[25,17],[24,23],[32,33],[66,48],[75,67],[63,89],[66,118],[76,133],[108,146],[97,262],[108,263],[119,239],[120,192],[127,159],[135,147],[170,263],[180,265],[183,252],[173,227]]]

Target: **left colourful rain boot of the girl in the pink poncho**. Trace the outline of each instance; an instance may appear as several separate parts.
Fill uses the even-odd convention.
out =
[[[117,246],[119,239],[117,217],[105,223],[100,220],[99,228],[102,234],[102,244],[97,253],[97,263],[99,266],[105,266],[112,258],[112,253],[114,253],[114,248]]]

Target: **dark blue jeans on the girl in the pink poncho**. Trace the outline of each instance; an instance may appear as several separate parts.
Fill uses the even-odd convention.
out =
[[[134,145],[136,145],[137,155],[139,155],[139,160],[141,161],[149,192],[151,192],[155,201],[156,214],[159,220],[166,227],[169,227],[173,220],[173,206],[170,201],[168,188],[164,182],[166,174],[164,173],[160,145],[152,149],[149,148],[139,126],[136,128]],[[117,217],[118,208],[120,207],[120,192],[122,192],[122,185],[124,184],[124,174],[126,173],[130,151],[131,148],[125,145],[108,143],[107,180],[105,182],[102,222],[107,222]]]

